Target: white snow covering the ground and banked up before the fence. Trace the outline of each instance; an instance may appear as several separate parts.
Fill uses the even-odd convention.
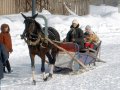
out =
[[[13,41],[13,53],[10,55],[13,72],[5,74],[1,90],[120,90],[120,13],[117,7],[92,5],[90,14],[86,16],[53,15],[46,10],[39,14],[47,18],[48,26],[58,30],[61,40],[69,31],[73,19],[78,19],[83,30],[86,25],[91,25],[102,40],[101,59],[107,63],[82,74],[54,74],[51,80],[44,82],[40,71],[41,60],[36,56],[37,85],[33,86],[28,48],[20,39],[24,30],[24,18],[21,14],[0,16],[0,25],[10,25]],[[25,15],[30,16],[31,12]],[[44,26],[43,19],[36,20]]]

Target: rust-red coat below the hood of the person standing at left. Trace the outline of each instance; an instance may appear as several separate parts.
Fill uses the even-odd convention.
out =
[[[7,52],[12,52],[12,40],[9,32],[2,31],[0,33],[0,43],[3,43]]]

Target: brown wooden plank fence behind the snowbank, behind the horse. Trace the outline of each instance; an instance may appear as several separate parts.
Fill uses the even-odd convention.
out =
[[[36,0],[36,10],[41,12],[43,8],[52,14],[68,15],[64,6],[78,15],[89,13],[89,0]],[[0,15],[28,12],[32,10],[32,0],[0,0]]]

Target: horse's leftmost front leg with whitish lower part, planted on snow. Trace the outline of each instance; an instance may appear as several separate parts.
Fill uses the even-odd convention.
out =
[[[35,81],[35,61],[34,61],[35,54],[30,54],[30,58],[31,58],[32,79],[33,79],[33,84],[35,85],[36,84],[36,81]]]

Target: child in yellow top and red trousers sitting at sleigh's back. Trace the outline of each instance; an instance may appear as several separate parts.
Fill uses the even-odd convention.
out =
[[[85,48],[95,49],[97,43],[100,41],[98,36],[91,30],[91,27],[89,25],[85,27],[84,37]]]

